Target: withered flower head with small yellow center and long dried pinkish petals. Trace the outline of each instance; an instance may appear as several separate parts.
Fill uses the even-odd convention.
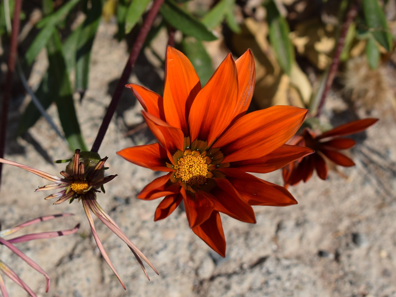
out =
[[[46,191],[46,190],[58,190],[62,189],[59,192],[50,194],[45,199],[53,199],[57,198],[54,204],[60,204],[69,200],[72,202],[74,199],[78,199],[78,201],[82,202],[84,207],[84,211],[88,218],[89,225],[92,230],[93,237],[95,238],[95,242],[99,251],[101,252],[103,258],[113,270],[114,274],[117,276],[120,281],[122,287],[126,289],[124,283],[122,282],[120,276],[118,275],[116,269],[112,265],[109,256],[107,255],[105,248],[103,247],[102,242],[97,235],[95,230],[95,225],[93,223],[93,217],[91,212],[96,215],[110,230],[112,230],[118,237],[120,237],[131,249],[133,255],[136,257],[139,262],[143,272],[148,278],[146,269],[143,265],[143,261],[146,261],[148,265],[158,274],[155,267],[150,263],[147,257],[129,240],[124,231],[114,222],[114,220],[101,208],[101,206],[96,201],[96,193],[100,192],[97,190],[97,187],[102,187],[105,183],[108,183],[117,175],[108,175],[104,176],[104,164],[108,158],[105,157],[99,160],[99,155],[97,153],[91,152],[83,152],[83,157],[80,158],[80,150],[76,149],[74,152],[74,156],[71,158],[69,165],[66,168],[66,171],[61,171],[61,175],[63,178],[56,177],[44,171],[13,162],[10,160],[5,160],[0,158],[0,162],[4,164],[10,164],[13,166],[17,166],[19,168],[30,171],[42,178],[45,178],[49,181],[54,182],[50,185],[45,185],[43,187],[39,187],[36,191]],[[67,162],[67,160],[65,160]],[[81,162],[82,161],[82,162]],[[59,161],[56,161],[59,162]],[[102,187],[103,188],[103,187]],[[148,278],[150,279],[150,278]]]

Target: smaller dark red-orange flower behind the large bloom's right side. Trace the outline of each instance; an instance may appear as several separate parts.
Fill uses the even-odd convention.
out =
[[[320,135],[316,135],[311,129],[305,128],[302,135],[294,136],[288,143],[309,147],[315,152],[291,162],[283,168],[285,187],[296,185],[301,180],[307,182],[312,176],[314,169],[316,169],[316,173],[321,179],[327,179],[328,169],[325,158],[340,166],[354,166],[355,163],[341,152],[338,152],[338,150],[352,148],[356,145],[356,141],[341,136],[364,131],[377,121],[378,119],[376,118],[357,120],[338,126]]]

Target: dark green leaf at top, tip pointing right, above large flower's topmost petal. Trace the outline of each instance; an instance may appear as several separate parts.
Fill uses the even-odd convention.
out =
[[[192,36],[198,40],[207,41],[217,39],[217,37],[214,36],[204,24],[202,24],[197,19],[194,19],[194,17],[192,17],[187,12],[183,11],[172,0],[166,0],[162,4],[160,13],[166,22],[169,23],[169,25],[180,30],[187,36]]]

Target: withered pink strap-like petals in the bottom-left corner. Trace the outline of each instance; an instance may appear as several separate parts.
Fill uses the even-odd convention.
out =
[[[31,267],[33,267],[35,270],[40,272],[46,277],[47,284],[46,284],[46,292],[48,292],[49,289],[49,276],[47,272],[43,270],[36,262],[34,262],[32,259],[30,259],[27,255],[25,255],[21,250],[19,250],[16,246],[13,244],[18,243],[18,242],[26,242],[29,240],[34,240],[34,239],[41,239],[41,238],[51,238],[51,237],[57,237],[57,236],[62,236],[62,235],[69,235],[77,232],[78,228],[80,227],[80,224],[76,225],[76,227],[68,230],[60,230],[60,231],[50,231],[50,232],[39,232],[39,233],[33,233],[33,234],[26,234],[10,239],[6,239],[5,237],[17,232],[23,227],[43,222],[43,221],[48,221],[57,217],[66,217],[69,215],[73,215],[72,213],[62,213],[58,215],[46,215],[42,217],[38,217],[36,219],[32,219],[30,221],[27,221],[25,223],[22,223],[20,225],[17,225],[13,228],[10,229],[5,229],[0,231],[0,245],[4,245],[8,247],[11,251],[13,251],[18,257],[20,257],[23,261],[28,263]],[[36,294],[30,289],[30,287],[21,279],[19,276],[6,264],[0,259],[0,272],[3,272],[6,276],[8,276],[11,280],[13,280],[17,285],[21,286],[27,293],[29,293],[30,296],[36,297]],[[0,292],[3,297],[8,297],[8,293],[6,290],[6,286],[4,284],[4,280],[0,274]]]

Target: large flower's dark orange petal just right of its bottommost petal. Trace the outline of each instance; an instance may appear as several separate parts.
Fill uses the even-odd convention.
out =
[[[214,188],[210,194],[203,191],[202,194],[211,196],[215,210],[242,222],[256,223],[253,208],[242,199],[231,183],[227,179],[214,179],[214,181],[218,188]]]

